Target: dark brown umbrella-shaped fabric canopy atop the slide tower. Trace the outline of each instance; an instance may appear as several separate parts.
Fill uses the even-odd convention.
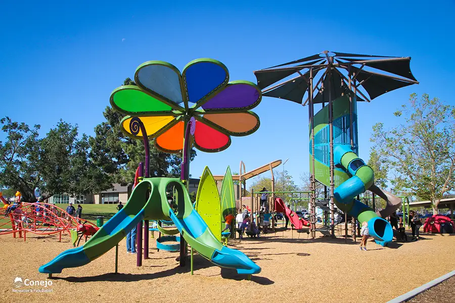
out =
[[[419,83],[411,72],[410,57],[387,57],[324,51],[320,54],[255,71],[262,95],[305,104],[310,68],[315,91],[313,103],[328,103],[348,93],[370,101],[394,89]],[[330,69],[330,73],[328,72]],[[280,82],[281,81],[281,82]],[[279,82],[278,84],[276,84]],[[330,89],[330,94],[328,93]],[[368,94],[368,96],[367,96]]]

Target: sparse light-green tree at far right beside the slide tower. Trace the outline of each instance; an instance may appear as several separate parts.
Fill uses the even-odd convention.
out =
[[[430,200],[436,214],[440,199],[455,185],[455,108],[413,93],[394,115],[402,123],[390,131],[377,123],[371,141],[393,169],[395,191]]]

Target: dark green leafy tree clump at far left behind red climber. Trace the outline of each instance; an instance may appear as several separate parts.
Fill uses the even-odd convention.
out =
[[[0,185],[19,190],[25,201],[54,193],[82,194],[97,188],[99,170],[88,157],[86,135],[78,138],[77,126],[60,120],[47,136],[38,138],[39,125],[0,119],[6,133],[0,142]]]

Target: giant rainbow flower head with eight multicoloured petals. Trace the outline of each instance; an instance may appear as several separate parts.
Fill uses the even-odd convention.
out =
[[[249,111],[261,101],[261,91],[249,81],[229,82],[228,69],[213,59],[197,59],[183,72],[162,61],[148,61],[134,74],[135,85],[116,88],[112,107],[128,115],[122,131],[141,139],[137,122],[142,121],[155,145],[168,153],[184,147],[187,122],[191,140],[202,151],[216,152],[229,147],[231,136],[246,136],[259,128],[259,117]],[[193,129],[194,126],[194,129]]]

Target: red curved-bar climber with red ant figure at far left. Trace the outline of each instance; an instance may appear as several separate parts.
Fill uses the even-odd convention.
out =
[[[48,203],[19,203],[0,209],[0,235],[12,234],[14,238],[24,238],[26,234],[52,235],[67,232],[73,244],[78,238],[77,231],[85,236],[93,235],[98,227],[86,220],[77,219],[63,209]],[[12,209],[14,208],[14,210]],[[95,232],[94,232],[95,231]],[[80,238],[79,238],[80,241]]]

